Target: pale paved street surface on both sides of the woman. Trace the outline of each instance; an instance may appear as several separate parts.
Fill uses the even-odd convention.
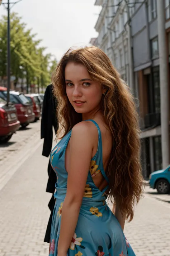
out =
[[[47,256],[43,239],[51,194],[46,193],[48,158],[41,155],[40,121],[19,130],[7,145],[0,145],[0,255]],[[124,233],[136,256],[170,255],[170,195],[158,195],[147,185]]]

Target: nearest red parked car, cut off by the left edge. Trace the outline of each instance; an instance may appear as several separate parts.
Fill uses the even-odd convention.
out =
[[[9,103],[0,97],[0,142],[8,142],[12,135],[19,130],[17,111],[14,104]]]

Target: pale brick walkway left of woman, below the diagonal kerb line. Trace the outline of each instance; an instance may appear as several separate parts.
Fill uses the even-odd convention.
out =
[[[42,145],[0,191],[1,256],[48,255],[43,239],[51,194],[46,193],[48,158],[41,153]]]

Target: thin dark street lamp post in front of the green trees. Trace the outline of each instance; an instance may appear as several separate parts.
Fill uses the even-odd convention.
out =
[[[17,4],[22,0],[18,0],[14,3],[10,3],[10,0],[8,0],[7,3],[2,3],[2,0],[0,0],[0,5],[7,5],[6,9],[8,11],[8,28],[7,28],[7,105],[9,104],[9,91],[10,91],[10,4]],[[13,6],[12,5],[12,6]]]

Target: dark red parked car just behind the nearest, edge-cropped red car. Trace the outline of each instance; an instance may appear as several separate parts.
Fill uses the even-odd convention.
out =
[[[7,89],[4,90],[0,87],[0,96],[2,95],[4,99],[7,99]],[[21,126],[24,128],[29,123],[35,120],[35,114],[33,112],[33,105],[30,104],[28,99],[24,96],[23,93],[17,91],[10,91],[10,102],[12,102],[17,110],[18,120],[20,121]]]

